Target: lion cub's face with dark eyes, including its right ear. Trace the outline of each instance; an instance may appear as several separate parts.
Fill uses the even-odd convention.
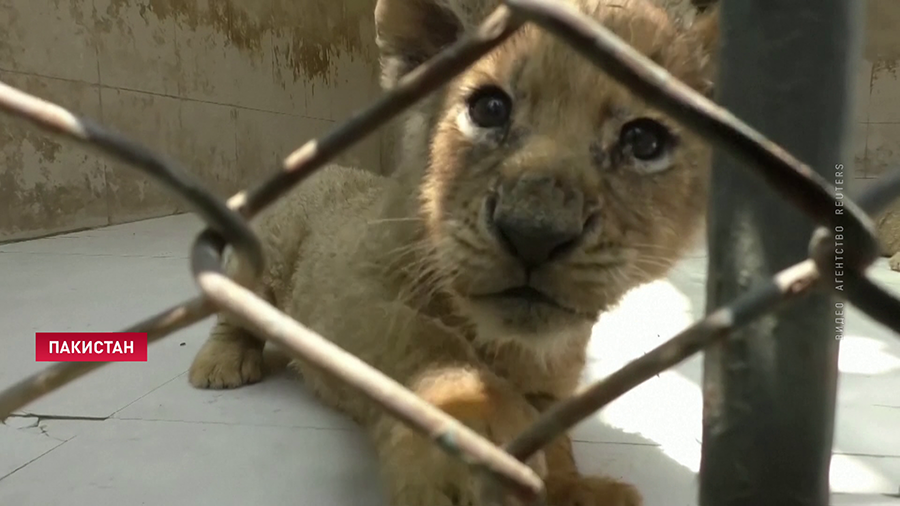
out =
[[[708,40],[643,2],[580,7],[706,91]],[[536,27],[462,74],[434,110],[423,215],[481,337],[589,325],[662,276],[702,223],[705,144]]]

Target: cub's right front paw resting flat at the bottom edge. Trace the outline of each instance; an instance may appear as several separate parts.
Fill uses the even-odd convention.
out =
[[[634,485],[601,476],[550,475],[547,506],[642,506]]]

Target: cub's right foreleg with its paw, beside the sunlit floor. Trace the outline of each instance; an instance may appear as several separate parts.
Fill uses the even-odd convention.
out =
[[[551,399],[531,399],[540,411]],[[584,476],[575,465],[572,440],[564,434],[545,447],[547,504],[549,506],[641,506],[643,499],[628,483],[604,476]]]

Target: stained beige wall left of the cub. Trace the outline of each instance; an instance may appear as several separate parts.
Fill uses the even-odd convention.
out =
[[[119,129],[228,196],[377,96],[374,0],[0,0],[0,81]],[[382,136],[344,157],[382,169]],[[0,240],[185,210],[0,115]]]

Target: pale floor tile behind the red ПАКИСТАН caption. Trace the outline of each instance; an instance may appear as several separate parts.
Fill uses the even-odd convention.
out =
[[[0,286],[3,386],[48,365],[35,362],[35,332],[120,330],[197,293],[186,260],[163,257],[0,253]],[[24,411],[109,416],[184,372],[210,324],[154,344],[146,363],[106,366]]]

